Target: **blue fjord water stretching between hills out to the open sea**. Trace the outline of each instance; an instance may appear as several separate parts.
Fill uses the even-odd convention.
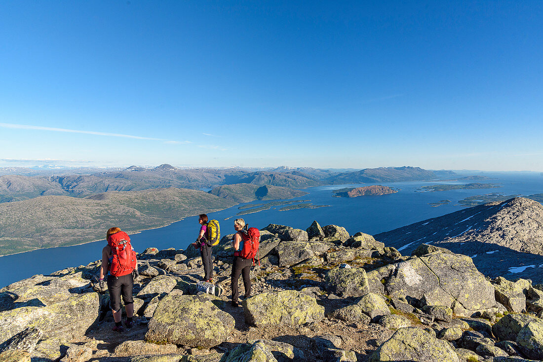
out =
[[[393,230],[397,227],[416,223],[421,220],[445,215],[464,208],[458,205],[458,200],[468,196],[484,195],[490,193],[503,193],[506,195],[521,194],[532,195],[543,193],[543,174],[540,173],[473,173],[465,175],[484,175],[492,177],[491,180],[464,180],[461,182],[447,181],[414,181],[414,182],[381,182],[364,183],[359,185],[333,185],[318,186],[305,189],[308,195],[290,200],[307,201],[313,205],[330,205],[312,209],[293,209],[279,211],[283,206],[274,206],[268,210],[236,216],[241,211],[238,208],[244,205],[266,204],[273,201],[252,201],[240,204],[223,211],[208,214],[211,219],[220,222],[221,234],[233,233],[233,220],[243,218],[249,226],[258,228],[268,224],[288,225],[295,228],[306,229],[313,220],[317,220],[321,226],[344,226],[350,234],[358,231],[377,234]],[[420,192],[422,186],[435,185],[437,183],[501,183],[500,188],[450,190],[440,192]],[[384,185],[399,192],[382,196],[359,196],[357,198],[332,197],[332,190],[344,187],[362,187],[369,185]],[[431,207],[432,202],[451,200],[449,204]],[[228,220],[224,220],[230,218]],[[147,247],[154,246],[158,249],[175,247],[185,249],[197,237],[199,224],[197,217],[187,217],[171,225],[142,231],[130,236],[134,249],[142,252]],[[117,225],[123,228],[123,225]],[[104,230],[105,233],[105,230]],[[0,287],[18,280],[31,277],[35,274],[47,275],[53,271],[61,270],[69,266],[86,265],[102,257],[102,247],[105,240],[83,245],[54,247],[28,251],[15,255],[0,257]]]

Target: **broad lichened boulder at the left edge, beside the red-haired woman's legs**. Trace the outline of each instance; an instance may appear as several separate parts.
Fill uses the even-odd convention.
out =
[[[29,326],[41,329],[47,338],[83,336],[98,319],[97,293],[72,296],[47,307],[21,307],[0,312],[0,343]]]

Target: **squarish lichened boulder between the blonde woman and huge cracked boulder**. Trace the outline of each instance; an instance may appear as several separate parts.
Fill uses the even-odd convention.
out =
[[[327,272],[326,290],[342,297],[359,297],[369,293],[368,277],[362,268],[336,268]]]

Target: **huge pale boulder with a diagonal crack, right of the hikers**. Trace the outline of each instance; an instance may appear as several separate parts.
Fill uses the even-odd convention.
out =
[[[430,306],[452,308],[460,316],[495,306],[494,287],[470,257],[433,252],[395,264],[385,284],[387,295],[414,298]]]

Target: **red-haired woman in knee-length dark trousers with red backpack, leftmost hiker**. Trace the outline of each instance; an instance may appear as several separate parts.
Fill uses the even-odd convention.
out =
[[[132,327],[134,317],[134,299],[132,299],[132,288],[134,279],[140,273],[137,271],[136,252],[130,244],[130,237],[118,227],[112,227],[106,233],[108,245],[102,249],[102,267],[100,268],[100,288],[105,289],[107,280],[111,312],[115,326],[113,331],[122,332],[121,295],[123,296],[124,308],[127,311],[127,321],[124,323],[127,328]]]

